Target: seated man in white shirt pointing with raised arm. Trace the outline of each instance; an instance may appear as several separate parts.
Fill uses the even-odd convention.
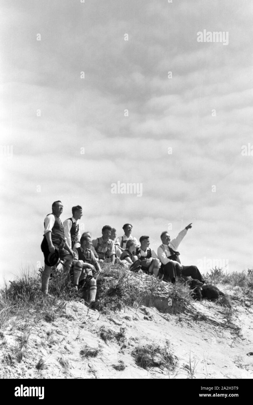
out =
[[[196,266],[182,266],[180,263],[179,255],[177,252],[178,246],[182,239],[187,234],[187,230],[191,228],[192,225],[189,224],[179,232],[175,239],[170,240],[170,236],[167,231],[162,232],[161,241],[163,242],[161,246],[157,249],[157,256],[161,260],[160,272],[163,274],[163,279],[165,281],[176,282],[176,276],[191,276],[193,279],[197,279],[204,283],[202,275]]]

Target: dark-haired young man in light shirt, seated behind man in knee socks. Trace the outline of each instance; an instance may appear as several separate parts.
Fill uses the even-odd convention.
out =
[[[99,260],[104,261],[110,259],[111,263],[115,263],[115,247],[110,239],[111,226],[105,225],[102,228],[102,237],[93,239],[92,246],[96,250]]]

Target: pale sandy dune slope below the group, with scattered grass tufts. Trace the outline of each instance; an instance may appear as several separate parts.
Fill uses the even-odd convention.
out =
[[[224,291],[224,285],[220,289]],[[241,298],[240,288],[227,287],[227,293],[234,307],[232,322],[225,318],[225,308],[206,300],[193,303],[195,313],[177,315],[144,306],[104,315],[88,311],[78,301],[66,303],[62,316],[53,322],[35,316],[35,320],[31,318],[15,328],[10,325],[5,329],[0,339],[0,377],[189,378],[191,356],[191,367],[195,363],[194,378],[252,378],[253,356],[247,356],[253,352],[252,303]],[[116,333],[124,328],[125,341],[113,339],[105,343],[99,335],[101,326]],[[30,335],[22,350],[23,358],[17,362],[15,348],[24,330]],[[177,358],[174,370],[147,371],[135,364],[131,353],[136,346],[146,343],[163,346],[166,340]],[[86,345],[99,348],[98,356],[82,358],[80,351]],[[35,367],[40,358],[45,360],[43,370]],[[126,366],[123,371],[112,367],[119,360]]]

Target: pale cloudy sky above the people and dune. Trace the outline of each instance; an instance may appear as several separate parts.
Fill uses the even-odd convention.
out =
[[[93,237],[130,222],[154,249],[193,222],[183,264],[252,268],[252,14],[247,0],[1,1],[1,279],[43,264],[54,200],[62,221],[81,205]],[[204,30],[228,44],[197,42]],[[112,194],[118,181],[142,196]]]

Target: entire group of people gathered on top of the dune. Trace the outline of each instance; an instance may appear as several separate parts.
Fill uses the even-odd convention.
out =
[[[161,233],[162,244],[157,254],[149,247],[150,240],[147,235],[140,237],[139,242],[131,235],[133,226],[124,224],[124,235],[117,237],[116,229],[105,225],[102,236],[92,239],[90,232],[81,234],[79,220],[82,217],[82,207],[72,207],[72,217],[63,224],[60,215],[63,211],[61,201],[52,204],[52,213],[45,217],[44,235],[41,250],[44,254],[45,266],[42,272],[42,292],[48,294],[49,277],[55,257],[63,260],[66,273],[71,273],[73,288],[78,291],[86,283],[89,286],[89,305],[96,308],[96,277],[101,272],[100,263],[107,260],[131,271],[144,271],[153,277],[162,278],[163,281],[176,282],[178,276],[191,276],[204,283],[204,279],[196,266],[182,266],[177,251],[178,246],[191,224],[179,232],[175,239],[170,239],[169,233]],[[57,253],[57,255],[56,255]]]

